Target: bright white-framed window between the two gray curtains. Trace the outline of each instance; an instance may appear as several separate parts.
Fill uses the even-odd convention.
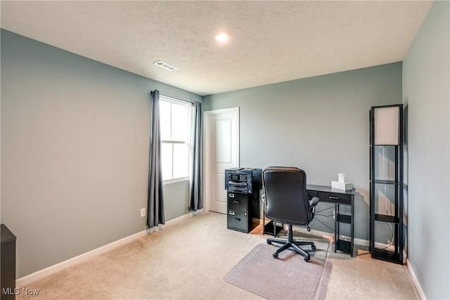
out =
[[[162,180],[186,179],[189,176],[191,150],[190,103],[160,96]]]

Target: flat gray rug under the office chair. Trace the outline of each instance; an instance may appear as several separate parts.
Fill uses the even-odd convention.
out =
[[[315,252],[309,252],[309,263],[289,250],[274,259],[272,254],[277,249],[274,245],[257,244],[224,280],[266,299],[325,299],[332,268],[326,261],[329,242],[317,238],[307,240],[317,247]]]

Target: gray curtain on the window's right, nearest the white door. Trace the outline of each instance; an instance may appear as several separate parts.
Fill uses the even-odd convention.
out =
[[[191,201],[189,209],[197,211],[203,208],[203,151],[202,151],[202,103],[195,103],[193,119],[193,169],[191,178]]]

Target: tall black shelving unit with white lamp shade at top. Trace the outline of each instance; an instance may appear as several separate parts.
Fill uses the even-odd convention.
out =
[[[403,105],[370,110],[370,249],[403,263]]]

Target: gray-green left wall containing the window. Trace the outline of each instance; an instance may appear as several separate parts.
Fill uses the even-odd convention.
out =
[[[18,278],[146,229],[153,89],[201,100],[1,30],[1,223]],[[183,214],[186,189],[165,192],[167,219]]]

